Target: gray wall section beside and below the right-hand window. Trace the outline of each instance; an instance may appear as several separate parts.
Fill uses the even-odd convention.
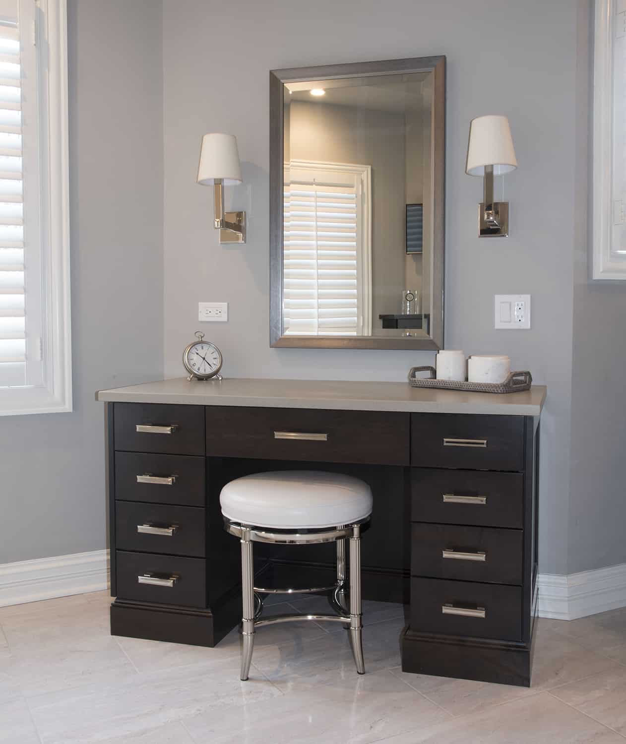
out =
[[[579,2],[577,174],[568,572],[626,562],[626,282],[591,282],[587,219],[591,146],[591,3]]]

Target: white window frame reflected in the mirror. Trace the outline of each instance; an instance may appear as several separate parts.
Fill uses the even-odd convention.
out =
[[[289,180],[291,168],[304,171],[308,170],[313,173],[319,173],[319,171],[323,170],[332,170],[336,173],[350,173],[353,176],[357,176],[357,179],[360,179],[362,185],[362,201],[360,203],[360,209],[362,211],[362,231],[359,246],[361,260],[357,263],[357,289],[359,292],[357,307],[360,309],[360,316],[357,321],[358,331],[356,335],[371,336],[371,165],[294,159],[285,167],[286,180]],[[288,330],[284,329],[283,334],[285,336],[298,336],[298,333],[289,333]],[[322,337],[330,334],[315,333],[313,335]]]

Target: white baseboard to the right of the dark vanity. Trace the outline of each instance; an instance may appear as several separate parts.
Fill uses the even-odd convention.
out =
[[[539,574],[539,617],[576,620],[626,607],[626,563],[560,576]]]

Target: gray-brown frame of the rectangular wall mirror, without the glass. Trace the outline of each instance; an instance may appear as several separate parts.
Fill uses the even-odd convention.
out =
[[[432,297],[430,336],[285,336],[283,333],[284,84],[375,75],[432,72]],[[444,345],[445,57],[355,62],[269,73],[269,336],[272,347],[440,349]]]

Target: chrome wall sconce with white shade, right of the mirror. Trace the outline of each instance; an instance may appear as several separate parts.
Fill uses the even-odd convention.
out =
[[[505,116],[479,116],[470,122],[465,173],[483,176],[484,202],[479,205],[479,237],[508,237],[508,202],[494,202],[494,176],[511,173],[517,159]]]

